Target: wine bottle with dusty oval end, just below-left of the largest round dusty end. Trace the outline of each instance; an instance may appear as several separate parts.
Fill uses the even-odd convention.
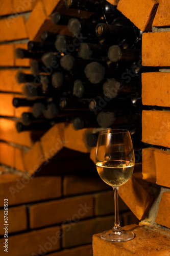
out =
[[[79,79],[75,80],[73,92],[74,95],[78,98],[89,98],[97,96],[96,94],[99,94],[102,92],[103,83],[93,84],[90,82],[83,82]]]

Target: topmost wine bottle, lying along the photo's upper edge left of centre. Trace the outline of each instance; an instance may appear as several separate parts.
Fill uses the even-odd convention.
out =
[[[102,12],[102,6],[99,1],[91,0],[65,0],[68,8],[80,9],[88,12]]]

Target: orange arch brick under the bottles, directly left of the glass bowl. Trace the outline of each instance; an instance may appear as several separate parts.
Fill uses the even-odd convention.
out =
[[[72,124],[66,124],[64,129],[64,140],[65,147],[70,148],[70,150],[76,150],[83,153],[89,153],[90,147],[85,143],[86,132],[92,132],[93,129],[82,129],[75,130]]]

